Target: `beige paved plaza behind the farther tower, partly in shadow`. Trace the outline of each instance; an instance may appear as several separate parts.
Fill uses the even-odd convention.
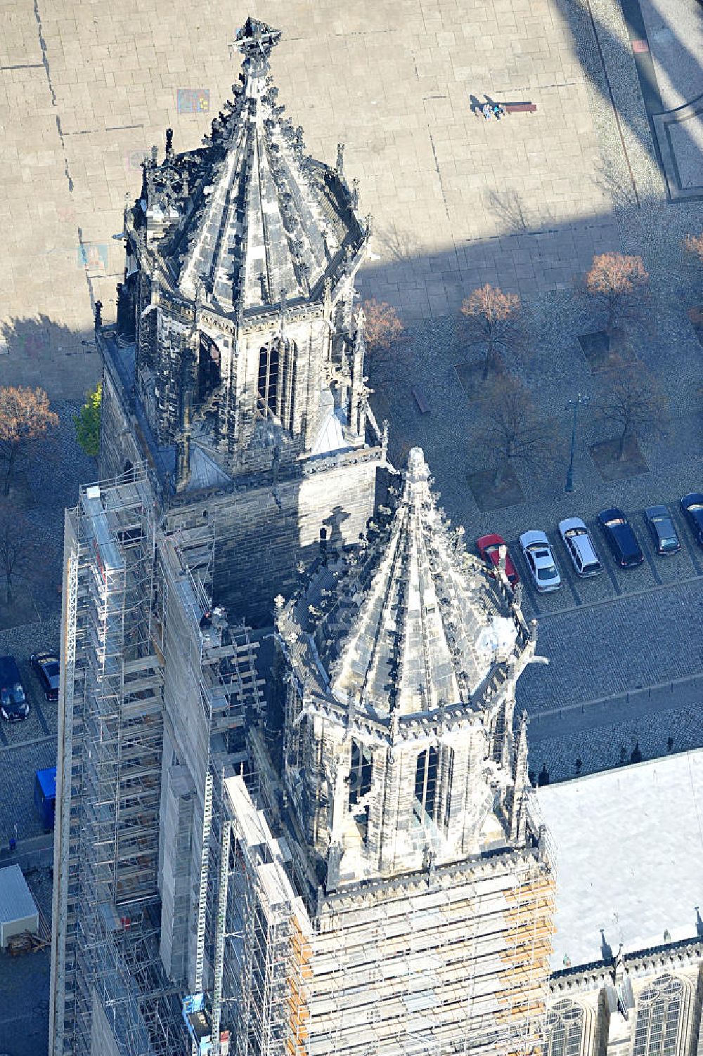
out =
[[[524,295],[568,286],[595,250],[616,247],[597,127],[609,135],[613,111],[594,119],[602,88],[584,65],[584,12],[570,21],[549,0],[254,7],[283,30],[274,76],[311,153],[333,161],[347,144],[376,230],[365,293],[410,318],[441,317],[487,281]],[[180,0],[0,6],[0,380],[71,398],[97,376],[93,306],[114,316],[125,195],[166,127],[179,150],[208,131],[238,75],[227,45],[247,13]],[[486,122],[473,110],[486,95],[537,112]],[[635,111],[623,121],[628,164],[661,194],[637,138],[642,105],[621,103]]]

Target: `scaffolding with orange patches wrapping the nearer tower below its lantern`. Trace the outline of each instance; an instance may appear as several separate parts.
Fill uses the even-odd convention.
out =
[[[230,798],[238,1053],[541,1053],[554,879],[536,847],[431,880],[352,885],[310,918],[288,881],[285,842],[271,837],[243,782]]]

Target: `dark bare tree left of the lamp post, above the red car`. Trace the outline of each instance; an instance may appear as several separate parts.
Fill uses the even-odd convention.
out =
[[[557,435],[553,423],[541,417],[530,390],[512,375],[503,375],[485,388],[479,416],[475,447],[495,470],[494,488],[500,487],[513,463],[535,466],[554,456]]]

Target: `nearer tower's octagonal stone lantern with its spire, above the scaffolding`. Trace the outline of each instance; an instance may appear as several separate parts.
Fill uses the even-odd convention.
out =
[[[534,625],[450,528],[419,448],[385,521],[277,614],[281,769],[328,890],[528,838],[513,718]]]

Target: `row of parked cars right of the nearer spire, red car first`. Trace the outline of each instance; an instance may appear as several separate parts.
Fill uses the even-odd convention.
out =
[[[691,492],[680,499],[681,511],[690,525],[696,542],[703,547],[703,494]],[[681,543],[676,525],[666,506],[648,506],[644,511],[652,542],[658,553],[676,553]],[[622,568],[634,568],[645,560],[632,525],[616,506],[602,510],[597,516],[604,536],[612,554]],[[559,522],[559,535],[577,576],[586,579],[597,576],[603,569],[591,533],[579,517]],[[498,565],[501,548],[505,547],[505,573],[513,585],[519,576],[505,541],[500,535],[482,535],[476,541],[484,561]],[[543,531],[525,531],[520,535],[520,549],[535,587],[540,593],[558,590],[561,577],[552,546]]]

